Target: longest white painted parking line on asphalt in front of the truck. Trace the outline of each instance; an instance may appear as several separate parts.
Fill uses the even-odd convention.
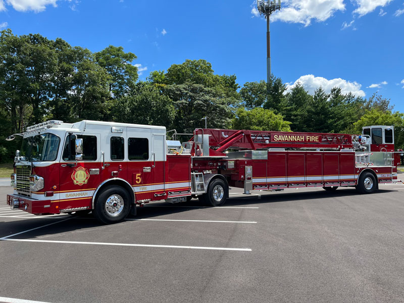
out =
[[[112,245],[112,246],[137,246],[137,247],[161,247],[161,248],[187,248],[187,249],[251,251],[250,248],[230,248],[230,247],[154,245],[154,244],[106,243],[106,242],[83,242],[83,241],[55,241],[55,240],[6,239],[6,238],[0,238],[0,240],[21,241],[21,242],[64,243],[64,244],[90,244],[90,245]]]

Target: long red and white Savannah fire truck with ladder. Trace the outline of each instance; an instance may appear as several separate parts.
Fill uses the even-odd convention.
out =
[[[245,194],[355,186],[366,194],[398,181],[391,126],[364,127],[362,135],[200,128],[181,143],[176,134],[167,140],[162,126],[52,120],[18,135],[11,209],[92,212],[105,224],[150,201],[197,197],[222,206],[231,186]]]

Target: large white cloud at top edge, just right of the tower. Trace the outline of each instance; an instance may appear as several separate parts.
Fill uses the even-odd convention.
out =
[[[310,25],[312,20],[325,21],[337,11],[344,11],[343,0],[284,0],[283,8],[271,19],[290,23]]]

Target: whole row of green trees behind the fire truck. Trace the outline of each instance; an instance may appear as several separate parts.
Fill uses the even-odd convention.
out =
[[[186,60],[138,80],[135,54],[109,45],[92,53],[61,38],[0,32],[0,161],[10,161],[18,140],[5,137],[42,121],[83,119],[151,124],[191,133],[210,128],[360,133],[365,125],[395,126],[404,145],[402,113],[390,100],[363,98],[301,84],[287,91],[280,78],[246,82],[218,75],[206,60]]]

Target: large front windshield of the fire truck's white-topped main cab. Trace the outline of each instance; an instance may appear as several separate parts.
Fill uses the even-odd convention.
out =
[[[23,161],[55,161],[60,138],[54,134],[41,134],[22,140],[20,155]]]

